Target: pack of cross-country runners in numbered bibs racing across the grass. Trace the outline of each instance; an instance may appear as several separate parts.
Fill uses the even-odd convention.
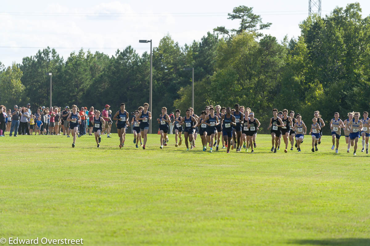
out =
[[[148,108],[149,104],[144,103],[143,106],[135,110],[135,117],[129,122],[129,114],[125,110],[125,104],[121,103],[120,110],[113,116],[113,120],[116,121],[118,136],[120,137],[119,148],[124,146],[127,127],[133,124],[135,147],[138,148],[138,143],[140,142],[140,147],[145,150],[149,120],[152,119],[152,114],[148,111]],[[81,122],[76,109],[77,106],[73,105],[72,111],[67,117],[73,135],[72,147],[75,146],[78,123]],[[167,114],[166,107],[162,107],[161,110],[162,113],[157,118],[159,123],[159,134],[161,134],[159,146],[161,149],[164,148],[168,142],[167,133],[169,131],[169,123],[174,123],[175,147],[182,144],[184,137],[186,150],[195,148],[195,140],[198,135],[202,140],[203,151],[207,151],[207,147],[210,147],[210,153],[212,153],[213,147],[216,147],[216,151],[218,151],[221,143],[222,148],[227,149],[227,153],[230,153],[230,148],[236,149],[236,152],[239,152],[242,147],[245,148],[246,151],[250,148],[251,152],[254,153],[254,148],[257,146],[256,137],[260,122],[255,118],[254,113],[251,112],[249,107],[245,108],[244,106],[235,104],[234,109],[231,109],[231,107],[221,107],[220,105],[213,107],[209,105],[205,106],[205,109],[199,116],[195,115],[194,109],[190,107],[186,110],[186,116],[184,117],[181,116],[181,111],[176,109],[176,116],[173,121]],[[300,114],[295,115],[295,112],[292,110],[288,113],[287,109],[283,111],[273,109],[272,114],[273,117],[270,119],[270,124],[268,126],[268,130],[270,130],[272,137],[271,151],[276,153],[277,150],[280,150],[281,137],[283,137],[285,153],[288,152],[289,143],[291,145],[290,150],[293,150],[293,146],[295,146],[297,151],[300,152],[301,144],[303,143],[308,129],[302,120],[302,116]],[[100,116],[99,111],[95,113],[92,124],[97,147],[100,147],[100,134],[102,126],[105,125],[105,120]],[[341,129],[343,128],[347,143],[347,153],[349,153],[350,146],[353,146],[353,154],[356,155],[357,142],[360,137],[362,137],[363,147],[361,151],[364,152],[366,147],[366,154],[368,154],[370,136],[369,124],[370,118],[368,117],[368,112],[363,113],[362,119],[360,119],[359,112],[350,112],[348,113],[348,119],[344,121],[339,118],[339,113],[335,112],[333,119],[330,120],[329,123],[330,129],[332,130],[332,150],[335,148],[335,152],[338,153],[339,139],[341,137]],[[325,127],[324,120],[320,112],[315,111],[309,131],[309,134],[312,136],[312,152],[318,151],[317,145],[321,143],[323,127]]]

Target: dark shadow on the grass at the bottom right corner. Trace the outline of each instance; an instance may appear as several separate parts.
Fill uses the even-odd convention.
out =
[[[369,246],[370,238],[330,238],[292,240],[290,244],[327,246]]]

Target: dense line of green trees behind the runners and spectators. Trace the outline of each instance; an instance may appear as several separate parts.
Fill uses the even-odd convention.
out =
[[[315,110],[326,123],[334,112],[344,119],[353,110],[369,111],[370,17],[359,3],[337,7],[331,14],[310,16],[300,23],[301,35],[283,41],[259,30],[269,28],[253,9],[235,7],[229,19],[238,29],[216,27],[200,41],[181,46],[168,34],[153,49],[153,116],[191,106],[194,67],[195,113],[205,105],[250,107],[267,133],[271,110],[294,110],[310,122]],[[5,68],[0,63],[0,103],[48,106],[53,73],[53,105],[64,107],[121,102],[129,112],[149,101],[150,55],[131,46],[111,57],[81,49],[67,59],[47,47]],[[157,122],[153,122],[153,132]],[[324,133],[329,132],[325,127]]]

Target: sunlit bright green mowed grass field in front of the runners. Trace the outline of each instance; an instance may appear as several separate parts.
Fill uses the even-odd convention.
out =
[[[84,245],[370,245],[370,161],[331,150],[255,153],[147,149],[132,134],[2,137],[0,238],[84,239]],[[360,142],[359,142],[360,143]],[[283,145],[283,144],[282,144]],[[209,150],[209,147],[208,147]]]

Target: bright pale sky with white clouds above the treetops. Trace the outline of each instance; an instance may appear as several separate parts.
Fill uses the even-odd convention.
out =
[[[0,62],[10,66],[33,56],[39,49],[55,48],[64,59],[80,48],[114,55],[128,45],[139,53],[157,47],[166,34],[180,45],[190,44],[217,26],[236,28],[228,20],[234,7],[253,7],[263,23],[272,23],[264,34],[281,41],[300,35],[299,23],[308,16],[308,0],[260,1],[168,1],[168,0],[38,0],[5,1],[0,8]],[[350,0],[322,0],[322,16]],[[358,0],[363,17],[370,14],[370,1]]]

